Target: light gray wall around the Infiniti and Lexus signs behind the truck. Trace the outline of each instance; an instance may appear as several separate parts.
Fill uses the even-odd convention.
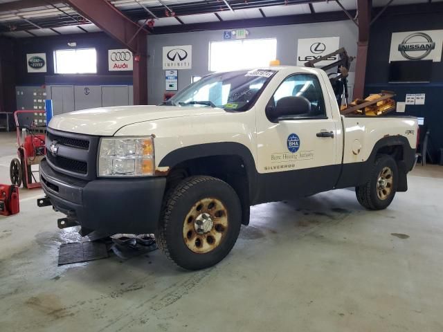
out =
[[[297,40],[299,38],[340,37],[340,47],[345,47],[348,55],[356,55],[357,28],[352,21],[334,21],[314,24],[294,24],[290,26],[268,26],[247,28],[248,39],[276,38],[277,59],[283,65],[295,65]],[[197,31],[150,35],[147,37],[148,103],[159,104],[165,93],[165,72],[162,68],[163,46],[192,45],[192,69],[179,70],[179,90],[190,84],[191,76],[209,73],[209,42],[223,40],[223,30]],[[351,70],[354,71],[354,64]],[[353,82],[350,82],[352,85]]]

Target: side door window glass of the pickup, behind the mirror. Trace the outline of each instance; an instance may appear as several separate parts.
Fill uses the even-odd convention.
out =
[[[294,110],[293,116],[296,118],[325,118],[326,108],[320,82],[315,75],[296,74],[287,77],[275,91],[269,105],[276,107],[278,101],[284,97],[304,97],[311,104],[309,113],[297,113]]]

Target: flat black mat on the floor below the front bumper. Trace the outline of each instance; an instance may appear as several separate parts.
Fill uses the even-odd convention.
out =
[[[106,243],[101,242],[75,242],[64,243],[58,252],[58,265],[93,261],[109,257]]]

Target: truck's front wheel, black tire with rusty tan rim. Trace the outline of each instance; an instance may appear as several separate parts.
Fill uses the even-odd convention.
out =
[[[191,176],[167,199],[156,241],[171,261],[187,270],[200,270],[228,255],[242,223],[239,198],[228,183]]]

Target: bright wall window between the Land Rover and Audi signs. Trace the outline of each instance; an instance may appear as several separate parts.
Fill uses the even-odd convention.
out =
[[[55,50],[54,72],[56,74],[97,73],[96,49]]]

